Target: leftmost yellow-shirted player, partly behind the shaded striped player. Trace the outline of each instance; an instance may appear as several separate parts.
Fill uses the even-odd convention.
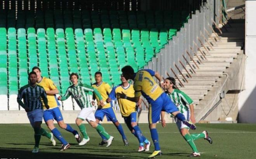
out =
[[[37,84],[42,86],[47,94],[48,105],[50,108],[46,110],[44,107],[43,120],[45,120],[47,127],[52,131],[54,136],[62,143],[60,151],[68,149],[70,147],[70,144],[64,139],[64,137],[61,135],[61,132],[59,132],[59,130],[55,128],[54,120],[57,121],[59,127],[67,130],[68,132],[71,132],[76,138],[77,142],[80,143],[81,137],[79,133],[74,130],[69,124],[64,123],[61,110],[59,109],[60,104],[56,98],[56,94],[58,94],[59,91],[54,85],[53,81],[49,78],[42,77],[41,70],[38,67],[33,67],[32,71],[36,73]]]

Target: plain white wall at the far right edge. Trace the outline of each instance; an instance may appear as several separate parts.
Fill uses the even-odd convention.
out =
[[[256,123],[256,0],[246,0],[245,87],[240,93],[239,122]]]

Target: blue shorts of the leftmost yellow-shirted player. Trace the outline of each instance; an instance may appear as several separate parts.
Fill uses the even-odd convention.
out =
[[[57,122],[63,120],[61,110],[59,107],[45,110],[43,112],[43,120],[47,122],[48,120],[56,120]]]

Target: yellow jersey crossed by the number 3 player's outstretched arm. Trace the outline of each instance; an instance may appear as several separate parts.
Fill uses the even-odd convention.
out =
[[[109,98],[111,100],[116,99],[117,93],[125,93],[129,97],[134,97],[134,89],[133,85],[128,85],[127,88],[124,88],[122,85],[115,86],[111,93],[109,94]],[[127,99],[118,98],[118,104],[120,107],[120,112],[123,117],[128,117],[132,112],[136,111],[136,103]]]

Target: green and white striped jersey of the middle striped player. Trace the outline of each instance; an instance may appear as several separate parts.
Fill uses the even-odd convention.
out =
[[[64,96],[62,96],[61,100],[66,100],[69,96],[76,100],[78,106],[83,108],[90,108],[92,107],[92,103],[90,102],[89,91],[92,91],[102,100],[100,93],[94,89],[92,86],[86,84],[76,84],[75,86],[69,86]]]

